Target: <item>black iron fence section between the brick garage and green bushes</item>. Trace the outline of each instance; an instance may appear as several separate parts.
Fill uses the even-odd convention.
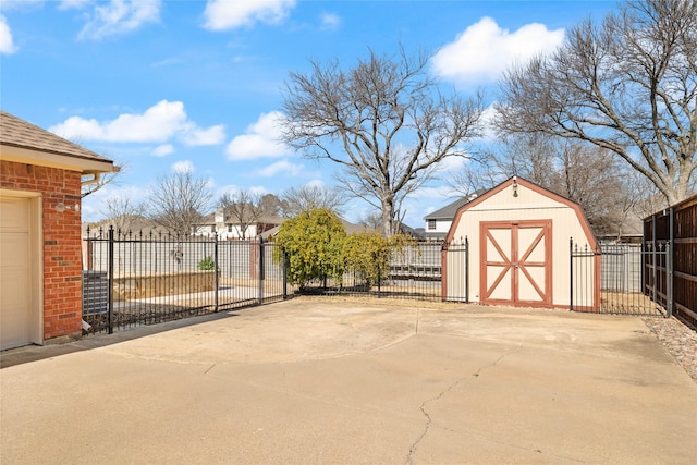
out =
[[[273,243],[110,228],[88,231],[83,244],[83,319],[91,333],[259,305],[289,294]]]

